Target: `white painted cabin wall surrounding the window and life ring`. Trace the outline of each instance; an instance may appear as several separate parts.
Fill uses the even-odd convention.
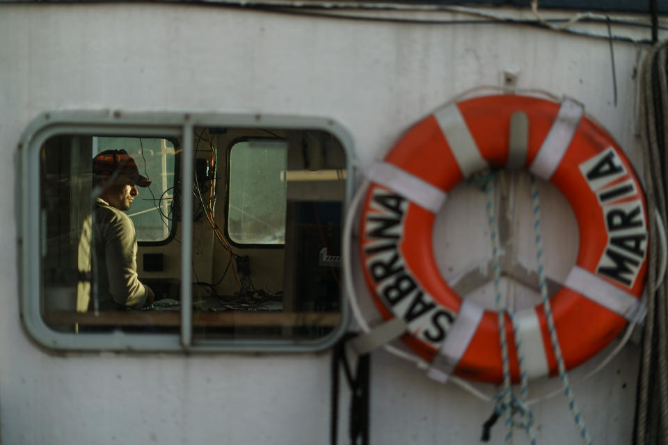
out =
[[[614,44],[614,106],[607,41],[503,24],[356,22],[145,3],[6,4],[0,41],[0,441],[8,445],[328,443],[328,353],[61,355],[31,343],[19,320],[10,209],[20,192],[16,145],[40,113],[326,116],[351,133],[365,167],[436,106],[469,88],[499,85],[500,72],[515,69],[520,87],[583,102],[637,159],[632,44]],[[598,443],[630,442],[637,359],[637,346],[628,346],[598,377],[575,385]],[[347,403],[344,391],[341,444]],[[534,409],[539,443],[578,443],[563,398]],[[475,444],[491,410],[411,364],[373,355],[372,444]],[[491,443],[502,437],[498,423]],[[522,432],[516,438],[525,443]]]

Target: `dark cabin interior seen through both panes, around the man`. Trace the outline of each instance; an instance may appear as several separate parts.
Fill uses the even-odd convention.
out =
[[[340,237],[347,158],[314,129],[195,127],[193,184],[182,186],[182,134],[58,133],[41,149],[42,317],[61,332],[177,332],[180,276],[192,271],[193,335],[203,339],[313,339],[340,320]],[[136,314],[77,307],[82,227],[92,163],[125,149],[141,175],[127,215],[136,228],[139,280],[155,293]],[[193,212],[182,210],[192,191]],[[193,223],[182,264],[182,221]],[[221,312],[230,314],[221,321]],[[212,315],[216,314],[215,318]],[[296,315],[297,314],[297,315]]]

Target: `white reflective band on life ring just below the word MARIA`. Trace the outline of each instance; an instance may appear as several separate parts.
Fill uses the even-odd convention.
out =
[[[616,312],[631,323],[642,321],[647,312],[642,300],[579,266],[573,266],[564,286]]]

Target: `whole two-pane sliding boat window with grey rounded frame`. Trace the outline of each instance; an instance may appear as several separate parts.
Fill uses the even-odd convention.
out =
[[[26,330],[65,350],[333,344],[347,133],[179,119],[70,113],[26,132]]]

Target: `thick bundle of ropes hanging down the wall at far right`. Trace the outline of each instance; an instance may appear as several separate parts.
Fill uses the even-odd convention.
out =
[[[656,45],[643,60],[640,78],[639,125],[642,135],[647,213],[666,220],[668,179],[665,149],[668,147],[668,41]],[[668,440],[668,289],[657,261],[658,220],[649,224],[649,278],[646,296],[647,318],[643,330],[642,356],[638,375],[635,413],[636,445],[666,443]],[[657,280],[657,276],[660,278]]]

